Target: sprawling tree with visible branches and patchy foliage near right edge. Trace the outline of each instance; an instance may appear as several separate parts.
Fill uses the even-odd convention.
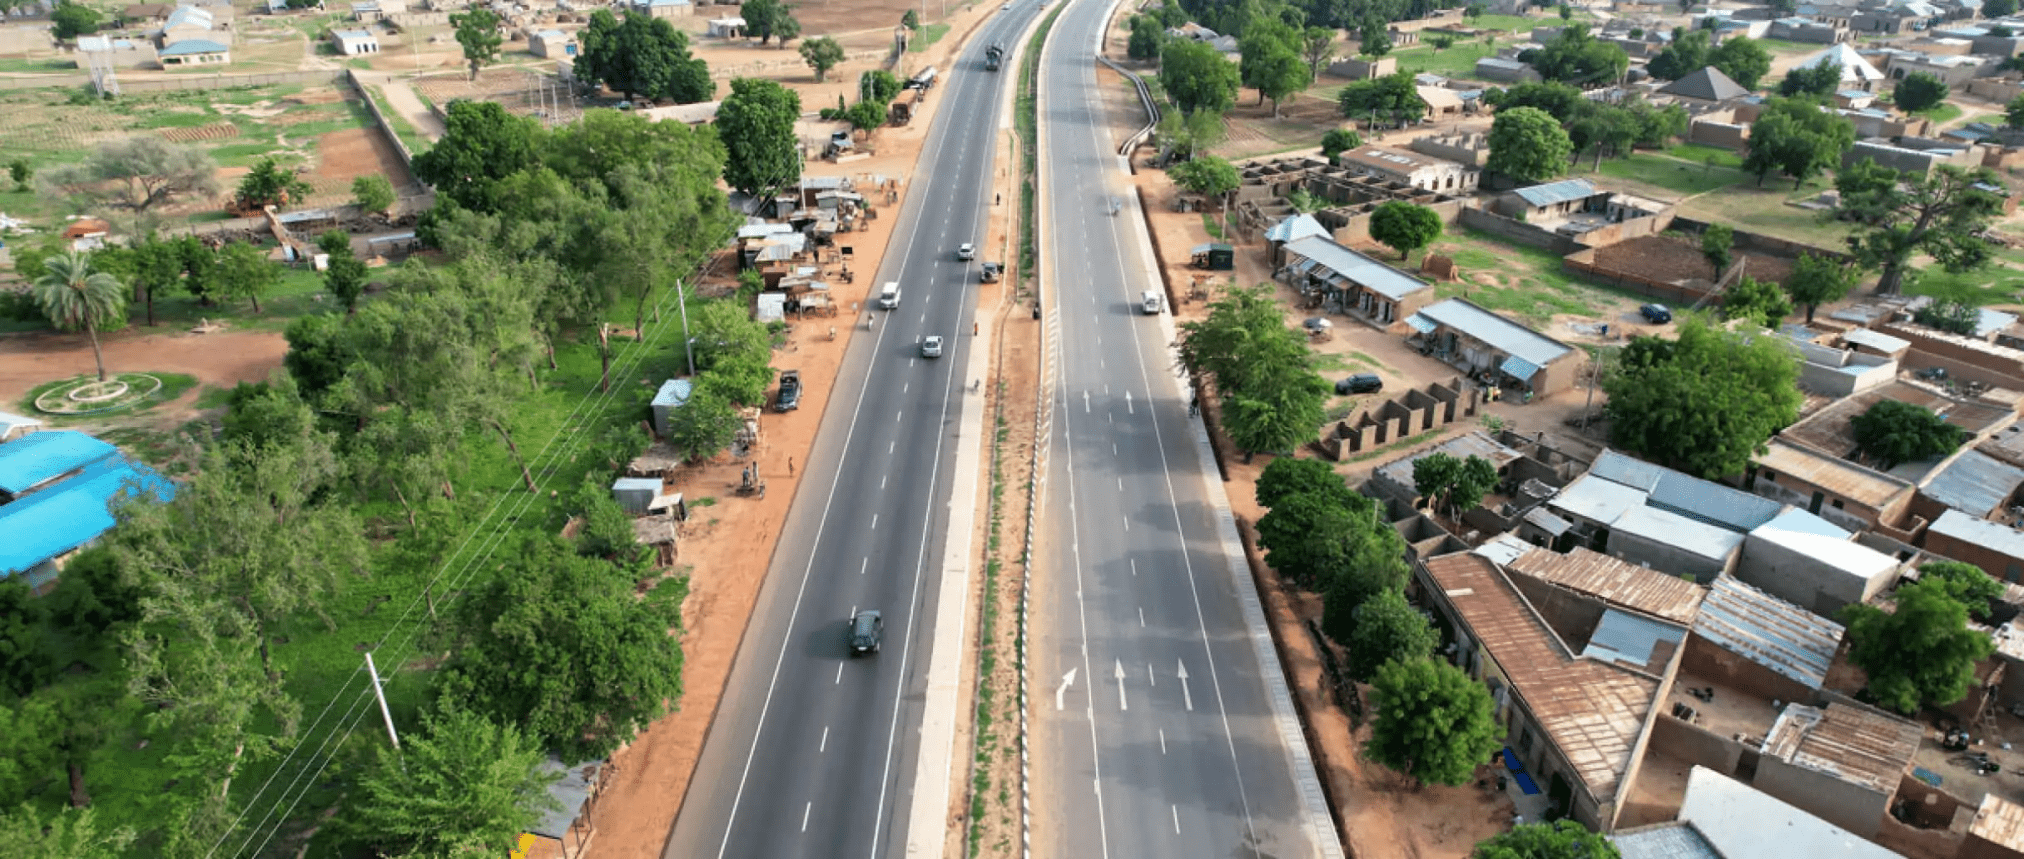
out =
[[[1941,164],[1927,176],[1901,174],[1868,158],[1834,178],[1842,201],[1836,215],[1854,221],[1848,247],[1856,259],[1882,269],[1876,292],[1894,296],[1915,253],[1933,257],[1947,274],[1967,274],[1990,261],[1990,243],[1977,233],[2002,213],[2002,188],[1990,168]]]

